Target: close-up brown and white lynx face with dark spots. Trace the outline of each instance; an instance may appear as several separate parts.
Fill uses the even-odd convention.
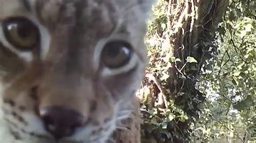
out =
[[[0,0],[0,142],[106,142],[136,109],[151,5]]]

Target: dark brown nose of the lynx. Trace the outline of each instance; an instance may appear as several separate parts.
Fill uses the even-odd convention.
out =
[[[56,139],[70,137],[76,128],[84,125],[84,117],[78,112],[61,106],[39,109],[46,131]]]

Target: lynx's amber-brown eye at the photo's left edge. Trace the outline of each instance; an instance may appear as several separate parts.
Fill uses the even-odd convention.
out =
[[[39,30],[29,19],[8,18],[2,27],[6,40],[21,51],[32,50],[39,44]]]

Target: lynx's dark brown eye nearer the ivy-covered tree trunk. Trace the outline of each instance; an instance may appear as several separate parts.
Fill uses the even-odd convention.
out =
[[[124,41],[111,41],[102,51],[102,62],[109,68],[120,68],[129,63],[133,51],[131,45]]]

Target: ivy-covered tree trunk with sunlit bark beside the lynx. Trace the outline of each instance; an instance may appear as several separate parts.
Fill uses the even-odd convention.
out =
[[[142,125],[145,143],[190,139],[191,125],[199,119],[198,105],[205,101],[197,88],[198,77],[206,60],[218,51],[215,31],[227,5],[228,0],[159,0],[153,9],[158,13],[147,37],[150,61],[138,92],[143,116],[151,120]],[[180,117],[182,112],[187,118]]]

